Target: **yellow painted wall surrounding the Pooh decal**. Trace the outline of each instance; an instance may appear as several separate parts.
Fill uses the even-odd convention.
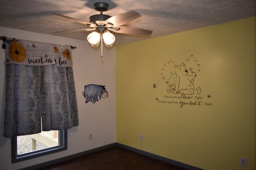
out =
[[[246,18],[117,46],[117,142],[207,170],[243,170],[242,156],[246,169],[255,170],[255,24],[256,17]],[[201,93],[164,98],[182,97],[167,93],[164,64],[190,55],[200,61],[193,84]],[[180,107],[180,101],[202,105]]]

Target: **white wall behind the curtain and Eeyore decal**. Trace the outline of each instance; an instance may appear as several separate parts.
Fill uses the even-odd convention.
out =
[[[68,150],[41,156],[31,160],[11,163],[11,140],[2,136],[4,128],[5,100],[5,65],[4,49],[0,48],[0,167],[2,170],[16,170],[42,162],[47,162],[71,154],[76,154],[96,147],[116,142],[116,80],[115,80],[115,48],[104,49],[104,62],[100,59],[100,49],[92,49],[87,41],[67,39],[0,27],[0,36],[30,41],[73,45],[73,70],[78,101],[79,126],[68,129]],[[2,46],[2,41],[0,42]],[[92,104],[85,104],[82,96],[84,85],[100,84],[106,86],[109,97]],[[93,139],[88,140],[88,134]]]

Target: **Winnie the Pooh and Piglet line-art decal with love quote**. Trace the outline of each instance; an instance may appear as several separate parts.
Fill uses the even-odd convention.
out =
[[[180,107],[188,106],[211,106],[210,103],[203,103],[203,96],[201,94],[201,87],[196,84],[196,79],[200,70],[200,62],[196,57],[191,55],[181,64],[176,64],[173,60],[170,60],[163,64],[160,73],[161,79],[157,82],[164,82],[166,88],[164,89],[166,95],[164,100],[160,100],[156,97],[158,103],[166,104],[179,104]],[[156,88],[156,84],[153,85]],[[208,94],[208,98],[210,98]],[[166,100],[166,99],[171,100]],[[173,99],[180,99],[174,101]],[[194,100],[194,101],[193,101]]]

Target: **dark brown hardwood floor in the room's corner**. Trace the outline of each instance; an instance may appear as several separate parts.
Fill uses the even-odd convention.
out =
[[[187,170],[122,149],[111,147],[41,170]]]

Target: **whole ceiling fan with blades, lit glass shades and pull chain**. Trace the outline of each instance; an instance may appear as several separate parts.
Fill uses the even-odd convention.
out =
[[[59,31],[54,32],[52,35],[60,35],[66,33],[78,33],[78,32],[91,32],[87,37],[88,42],[93,47],[98,47],[101,41],[101,51],[102,51],[102,41],[106,47],[110,47],[115,42],[115,37],[112,33],[121,33],[121,34],[132,34],[132,35],[150,35],[153,31],[122,26],[130,21],[133,21],[137,18],[142,17],[138,12],[130,11],[116,16],[108,16],[102,14],[104,11],[108,10],[108,4],[105,2],[97,2],[94,4],[95,10],[100,11],[100,14],[90,16],[90,22],[78,20],[76,18],[71,18],[61,14],[52,13],[56,16],[66,18],[73,23],[84,25],[84,29],[76,29],[69,31]]]

